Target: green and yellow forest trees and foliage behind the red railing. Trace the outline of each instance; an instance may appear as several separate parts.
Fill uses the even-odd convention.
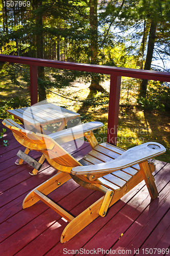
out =
[[[169,71],[165,62],[170,54],[169,0],[31,0],[28,3],[26,6],[0,3],[2,54],[156,70],[162,69],[152,61],[161,59],[163,70]],[[19,86],[17,73],[21,74],[20,69],[24,68],[10,67],[11,80]],[[27,72],[22,75],[26,79]],[[49,75],[39,67],[39,100],[45,99],[51,88],[60,89],[79,77],[91,81],[91,90],[102,91],[104,77],[99,74],[56,70]],[[29,78],[26,80],[29,88]],[[150,93],[147,84],[143,80],[139,87],[140,96],[146,100]]]

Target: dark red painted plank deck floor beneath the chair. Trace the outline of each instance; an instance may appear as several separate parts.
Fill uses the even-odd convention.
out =
[[[151,201],[143,181],[109,208],[106,217],[97,218],[61,244],[60,236],[67,223],[54,210],[40,201],[22,209],[29,191],[56,174],[56,170],[45,162],[38,175],[31,176],[33,168],[29,164],[14,163],[23,147],[9,130],[5,138],[9,146],[0,147],[0,255],[168,255],[165,249],[170,245],[169,163],[154,160],[157,199]],[[90,147],[85,143],[81,151],[74,152],[68,144],[67,151],[79,160]],[[36,159],[40,156],[35,151],[30,155]],[[100,191],[83,188],[73,180],[50,194],[73,216],[101,196]]]

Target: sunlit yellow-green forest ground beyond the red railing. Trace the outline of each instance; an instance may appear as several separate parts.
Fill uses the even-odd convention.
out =
[[[20,84],[20,87],[14,86],[8,76],[1,76],[1,111],[5,102],[9,101],[11,98],[15,97],[17,99],[15,101],[23,98],[26,101],[26,98],[29,98],[30,92],[27,88],[27,84],[23,83],[22,81]],[[96,106],[83,104],[81,100],[87,98],[89,94],[89,85],[89,83],[77,81],[72,83],[71,86],[63,89],[53,89],[53,93],[47,95],[47,100],[48,102],[57,103],[60,106],[65,106],[69,110],[80,113],[82,122],[103,122],[103,128],[95,132],[95,137],[98,139],[99,143],[106,142],[108,120],[108,103],[106,99],[108,99],[108,95],[106,94],[106,97],[104,97],[104,104]],[[109,81],[103,83],[102,86],[109,93]],[[122,94],[125,93],[125,90],[122,90]],[[95,97],[96,96],[100,96],[100,93],[95,95]],[[20,103],[22,104],[22,101]],[[4,111],[6,109],[8,108],[5,108],[3,112],[1,112],[2,119],[3,117],[6,118],[4,115]],[[166,153],[156,157],[156,159],[164,162],[170,162],[169,112],[143,110],[134,104],[126,106],[121,99],[119,108],[117,146],[127,150],[132,146],[148,141],[156,141],[164,145],[166,148]]]

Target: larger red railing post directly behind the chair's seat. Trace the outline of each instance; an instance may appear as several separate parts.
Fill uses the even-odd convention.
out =
[[[110,75],[110,96],[109,96],[109,113],[107,142],[116,146],[118,130],[118,112],[120,99],[121,76]]]

